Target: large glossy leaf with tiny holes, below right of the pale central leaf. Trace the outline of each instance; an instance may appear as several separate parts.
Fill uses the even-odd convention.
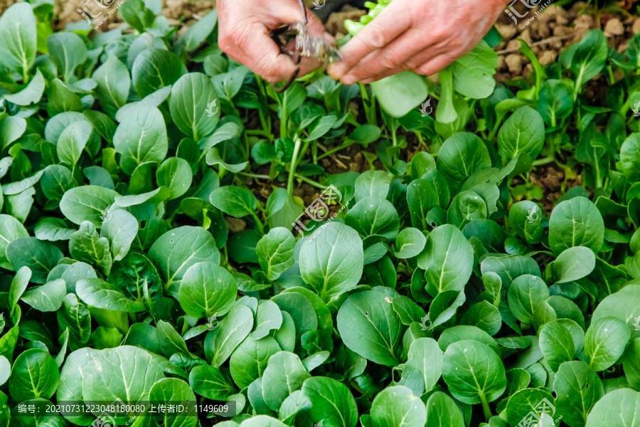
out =
[[[403,327],[383,292],[357,292],[340,306],[338,332],[346,347],[386,366],[399,362]]]

